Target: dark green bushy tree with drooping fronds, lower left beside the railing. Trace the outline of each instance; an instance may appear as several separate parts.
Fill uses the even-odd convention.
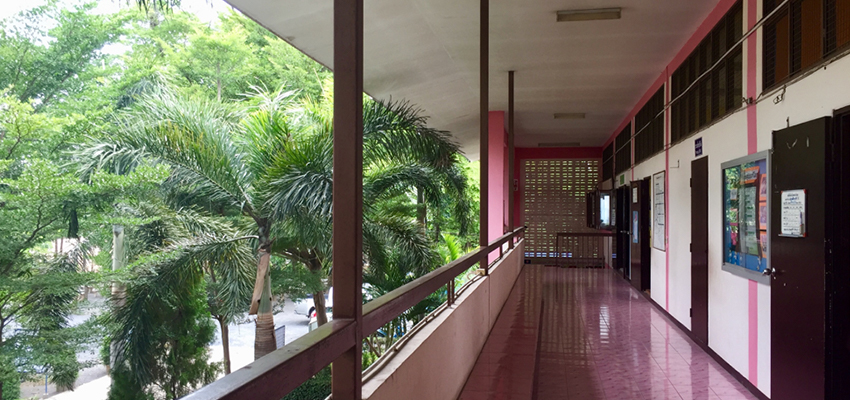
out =
[[[124,291],[111,301],[110,398],[134,392],[177,398],[219,371],[209,362],[209,316],[229,322],[230,310],[244,307],[256,260],[246,238],[221,218],[172,211],[157,196],[121,209],[130,264],[118,276]],[[219,277],[214,288],[208,286],[212,274]]]

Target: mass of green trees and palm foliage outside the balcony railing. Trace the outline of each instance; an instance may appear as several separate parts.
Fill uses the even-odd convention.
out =
[[[321,302],[332,285],[330,71],[236,11],[204,23],[179,0],[130,3],[100,14],[95,2],[49,0],[0,21],[4,399],[45,372],[72,388],[88,365],[77,350],[104,342],[112,398],[179,397],[218,373],[209,317],[224,331],[245,313],[264,254],[259,281],[275,298]],[[377,296],[440,264],[442,234],[470,237],[477,214],[465,159],[420,109],[364,97],[364,128],[364,261]],[[127,266],[91,272],[112,262],[113,225]],[[91,286],[117,289],[110,315],[69,326]],[[441,296],[384,329],[389,342]],[[304,390],[324,393],[322,374]]]

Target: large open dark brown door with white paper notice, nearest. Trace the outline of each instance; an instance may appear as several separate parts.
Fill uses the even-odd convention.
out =
[[[828,118],[773,132],[770,332],[773,400],[825,393]],[[782,192],[805,190],[805,236],[782,234]],[[846,221],[845,221],[846,223]]]

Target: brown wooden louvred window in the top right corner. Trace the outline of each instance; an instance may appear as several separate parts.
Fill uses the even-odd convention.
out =
[[[765,15],[779,0],[765,0]],[[850,0],[792,0],[764,24],[763,86],[775,86],[850,45]]]

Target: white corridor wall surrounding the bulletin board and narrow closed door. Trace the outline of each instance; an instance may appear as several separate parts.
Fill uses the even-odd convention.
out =
[[[746,50],[745,50],[746,51]],[[761,51],[758,51],[759,57]],[[746,68],[746,66],[745,66]],[[761,66],[757,68],[761,82]],[[745,82],[746,87],[746,82]],[[779,90],[781,92],[781,90]],[[754,105],[757,112],[757,151],[770,149],[774,130],[793,126],[850,106],[850,57],[843,57],[811,75],[789,84],[784,100],[774,104],[779,92],[764,93]],[[747,111],[740,111],[672,146],[669,152],[667,213],[669,236],[669,288],[666,256],[652,250],[652,299],[690,328],[691,307],[691,210],[690,177],[694,140],[703,139],[709,160],[709,346],[744,377],[750,377],[749,281],[722,271],[722,198],[720,164],[748,154]],[[664,153],[634,166],[641,179],[664,170]],[[626,181],[630,178],[626,174]],[[616,181],[619,181],[619,177]],[[665,302],[669,290],[669,304]],[[758,284],[757,387],[770,396],[770,287]]]

